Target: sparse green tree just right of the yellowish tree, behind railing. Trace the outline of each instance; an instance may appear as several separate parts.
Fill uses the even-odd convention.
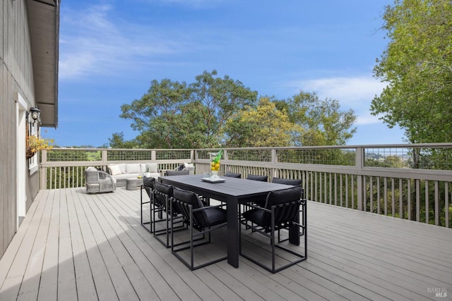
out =
[[[275,100],[277,108],[285,109],[292,123],[302,130],[294,135],[295,145],[345,145],[356,128],[355,112],[340,111],[340,104],[335,99],[319,99],[315,92],[300,91],[290,99]]]

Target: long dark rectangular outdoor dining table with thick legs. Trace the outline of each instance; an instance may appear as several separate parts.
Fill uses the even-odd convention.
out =
[[[239,267],[239,216],[238,204],[247,199],[268,195],[268,192],[293,187],[277,183],[245,180],[240,178],[223,178],[225,181],[209,183],[202,180],[203,176],[165,176],[160,177],[160,183],[172,185],[184,190],[190,190],[203,197],[217,199],[226,203],[227,211],[227,262]],[[299,228],[292,227],[289,231],[289,241],[299,245]]]

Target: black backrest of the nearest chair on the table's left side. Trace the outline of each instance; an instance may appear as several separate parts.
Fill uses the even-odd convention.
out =
[[[196,195],[195,192],[174,187],[173,196],[174,199],[176,199],[177,201],[179,210],[184,215],[184,218],[186,220],[191,219],[189,205],[191,205],[192,209],[199,209],[204,207],[203,202],[201,202],[201,199],[198,197],[198,195]],[[195,227],[205,228],[207,223],[206,218],[204,216],[204,212],[203,211],[194,212],[193,222]]]

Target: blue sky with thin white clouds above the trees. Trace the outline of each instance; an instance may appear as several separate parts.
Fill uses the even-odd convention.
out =
[[[388,0],[63,0],[59,126],[42,135],[59,146],[138,135],[121,104],[152,80],[194,82],[204,70],[229,75],[260,96],[300,90],[355,110],[347,145],[403,143],[369,113],[384,84],[372,76],[388,39],[379,30]],[[45,130],[45,133],[44,133]]]

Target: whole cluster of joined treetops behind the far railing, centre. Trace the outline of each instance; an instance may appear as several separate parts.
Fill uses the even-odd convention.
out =
[[[148,93],[121,106],[140,134],[124,141],[114,133],[112,147],[209,148],[344,145],[355,133],[352,110],[334,99],[300,92],[290,99],[261,97],[242,82],[204,71],[195,82],[153,80]]]

